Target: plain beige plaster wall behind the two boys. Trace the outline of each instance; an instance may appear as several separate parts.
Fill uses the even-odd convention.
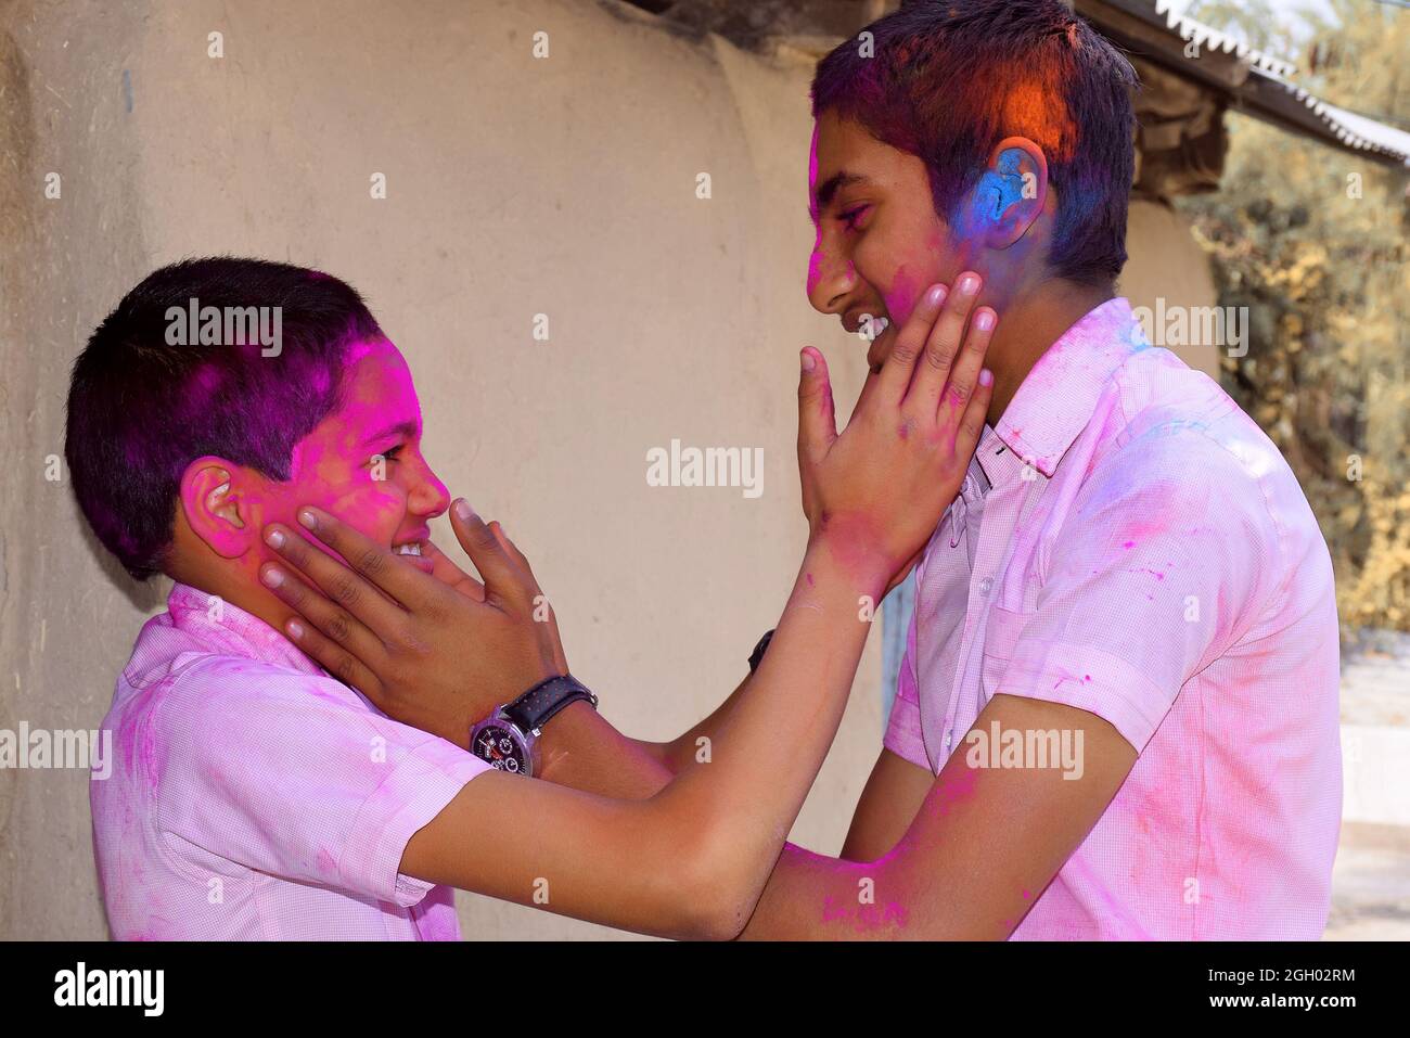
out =
[[[802,549],[797,348],[839,399],[863,375],[802,295],[809,72],[611,3],[0,7],[0,728],[94,728],[161,608],[45,470],[96,322],[212,252],[357,285],[419,377],[427,457],[530,553],[603,712],[647,738],[706,714]],[[671,439],[763,447],[763,495],[647,487]],[[819,850],[877,752],[878,635],[792,834]],[[472,938],[611,934],[460,908]],[[0,770],[0,938],[104,935],[87,774]]]

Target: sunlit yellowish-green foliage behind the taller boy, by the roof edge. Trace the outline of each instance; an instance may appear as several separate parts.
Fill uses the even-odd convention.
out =
[[[1332,0],[1301,54],[1268,13],[1191,14],[1301,69],[1340,107],[1410,126],[1410,10]],[[1314,61],[1316,58],[1316,61]],[[1316,63],[1316,71],[1311,65]],[[1344,628],[1410,630],[1407,178],[1238,114],[1218,193],[1180,200],[1220,303],[1249,307],[1224,384],[1297,472],[1337,568]]]

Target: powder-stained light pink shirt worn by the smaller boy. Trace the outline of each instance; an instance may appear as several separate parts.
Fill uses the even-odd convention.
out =
[[[455,941],[398,872],[478,757],[400,725],[250,613],[178,584],[142,628],[89,786],[113,936]]]

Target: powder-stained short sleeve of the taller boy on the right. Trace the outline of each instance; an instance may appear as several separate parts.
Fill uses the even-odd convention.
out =
[[[1239,458],[1193,429],[1152,430],[1077,492],[998,691],[1090,711],[1141,752],[1252,623],[1279,551]]]

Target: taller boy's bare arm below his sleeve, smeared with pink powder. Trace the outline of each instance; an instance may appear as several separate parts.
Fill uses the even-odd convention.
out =
[[[1081,747],[1080,769],[993,767],[983,756],[971,759],[973,733],[990,731],[1072,733]],[[912,814],[916,784],[929,780],[924,769],[883,755],[863,801],[876,811],[888,794],[898,805],[871,824],[853,825],[849,841],[871,860],[785,849],[744,935],[1005,939],[1087,839],[1135,762],[1135,747],[1111,722],[1066,704],[1000,692],[931,781],[894,845],[900,818]]]

